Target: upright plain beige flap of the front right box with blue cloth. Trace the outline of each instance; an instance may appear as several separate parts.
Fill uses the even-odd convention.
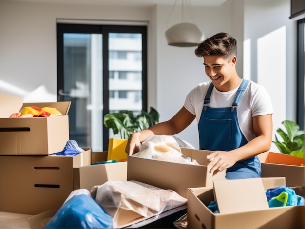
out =
[[[215,180],[215,199],[220,213],[269,208],[261,178]]]

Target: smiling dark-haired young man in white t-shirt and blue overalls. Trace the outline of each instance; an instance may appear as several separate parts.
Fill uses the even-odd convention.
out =
[[[184,106],[170,120],[130,135],[126,153],[139,151],[151,135],[174,135],[196,118],[200,149],[214,151],[207,156],[210,172],[227,169],[227,179],[261,176],[257,157],[272,143],[272,103],[266,89],[241,79],[236,72],[236,40],[218,33],[195,50],[203,57],[209,82],[194,88]]]

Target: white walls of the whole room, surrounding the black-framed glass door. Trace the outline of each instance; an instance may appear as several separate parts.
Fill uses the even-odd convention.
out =
[[[275,127],[286,117],[293,120],[296,110],[295,82],[292,79],[296,72],[295,22],[288,19],[289,2],[290,0],[229,0],[220,7],[193,7],[195,22],[203,31],[205,38],[222,31],[237,39],[237,71],[242,77],[249,71],[248,68],[244,69],[244,66],[249,65],[248,76],[269,90],[276,112]],[[18,88],[16,94],[19,93],[21,96],[44,85],[51,95],[57,94],[56,18],[145,20],[149,21],[148,102],[149,106],[159,111],[160,121],[167,120],[183,106],[185,96],[193,87],[208,80],[203,60],[194,55],[195,47],[179,48],[167,45],[165,31],[176,20],[177,23],[181,20],[177,15],[172,15],[169,19],[171,9],[172,6],[166,5],[145,8],[1,0],[0,92],[7,92],[8,86],[12,85]],[[168,21],[172,24],[168,25]],[[286,33],[279,34],[285,36],[285,42],[282,44],[286,46],[281,48],[280,53],[268,57],[284,61],[284,66],[268,66],[267,72],[262,72],[259,69],[266,61],[260,62],[257,59],[257,42],[282,26],[286,26]],[[251,40],[251,53],[250,60],[245,64],[243,42],[247,39]],[[260,55],[266,53],[270,52],[264,51]],[[277,71],[284,72],[280,81],[278,75],[274,74]],[[276,82],[280,83],[283,102],[277,97],[279,90],[274,90]],[[199,147],[195,122],[178,136],[196,148]]]

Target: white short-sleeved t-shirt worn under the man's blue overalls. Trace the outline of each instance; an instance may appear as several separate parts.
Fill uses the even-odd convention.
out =
[[[196,115],[197,125],[210,83],[211,81],[199,84],[191,90],[184,102],[184,107],[191,114]],[[238,88],[239,85],[232,91],[220,92],[213,87],[209,106],[231,107]],[[252,117],[268,114],[273,114],[273,108],[267,90],[263,86],[250,81],[237,107],[239,126],[248,141],[255,137],[252,127]]]

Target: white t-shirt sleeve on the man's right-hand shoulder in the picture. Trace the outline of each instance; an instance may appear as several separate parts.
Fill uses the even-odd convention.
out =
[[[272,101],[265,87],[260,85],[252,98],[252,117],[273,114]]]

